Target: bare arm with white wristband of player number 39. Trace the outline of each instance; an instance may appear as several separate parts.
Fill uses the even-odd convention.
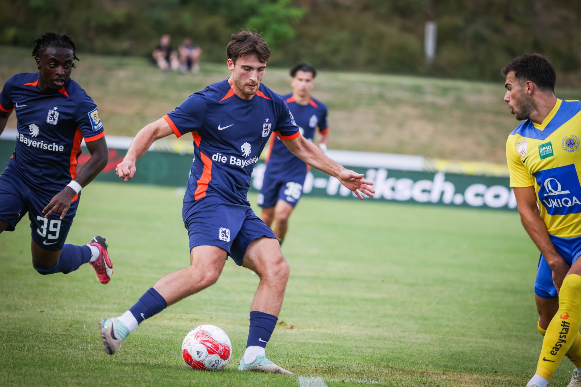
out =
[[[91,153],[91,157],[73,179],[73,182],[76,182],[81,188],[87,186],[88,183],[95,179],[99,175],[99,172],[105,168],[109,160],[109,149],[107,149],[105,137],[95,141],[89,141],[86,145],[89,153]],[[45,214],[44,217],[48,218],[55,212],[57,214],[60,213],[60,219],[62,220],[64,215],[69,211],[71,201],[73,201],[76,195],[77,191],[73,188],[70,186],[64,187],[62,191],[52,197],[51,202],[42,210],[42,214]]]

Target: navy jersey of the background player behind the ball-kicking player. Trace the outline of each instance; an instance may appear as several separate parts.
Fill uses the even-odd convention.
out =
[[[309,103],[306,105],[298,104],[292,93],[282,97],[295,117],[296,124],[299,125],[300,132],[304,138],[313,142],[316,128],[319,128],[321,134],[327,133],[329,130],[327,106],[313,98],[309,99]],[[272,138],[270,151],[267,155],[267,172],[272,176],[306,175],[307,164],[290,153],[284,142],[277,138]]]

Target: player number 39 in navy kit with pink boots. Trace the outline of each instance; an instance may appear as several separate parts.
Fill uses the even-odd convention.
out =
[[[107,164],[103,124],[91,97],[69,78],[77,59],[73,41],[46,32],[34,42],[40,71],[14,75],[0,93],[0,133],[15,109],[18,129],[16,150],[0,175],[0,233],[13,231],[28,212],[39,273],[66,274],[90,262],[106,284],[113,265],[105,238],[96,236],[83,246],[64,244],[81,187]],[[91,158],[77,173],[83,138]]]

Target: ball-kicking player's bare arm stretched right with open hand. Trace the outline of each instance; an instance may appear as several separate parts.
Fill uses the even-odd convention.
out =
[[[352,190],[361,200],[363,200],[361,193],[369,197],[372,197],[375,193],[375,190],[371,188],[373,183],[369,180],[365,180],[363,173],[356,173],[343,168],[342,165],[331,160],[331,158],[322,153],[315,144],[311,143],[303,136],[283,141],[286,147],[288,147],[296,157],[300,158],[300,160],[303,160],[311,167],[339,179],[342,185]]]

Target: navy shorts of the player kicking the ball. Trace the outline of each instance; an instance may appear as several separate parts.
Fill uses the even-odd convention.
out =
[[[277,238],[249,205],[233,204],[213,197],[184,202],[184,226],[189,249],[201,245],[223,248],[236,265],[242,265],[246,248],[260,237]]]

